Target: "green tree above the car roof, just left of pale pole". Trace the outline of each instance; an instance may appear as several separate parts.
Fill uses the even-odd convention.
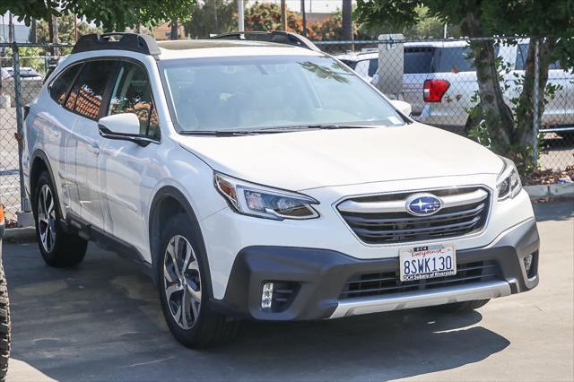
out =
[[[237,1],[205,0],[197,3],[191,8],[191,18],[184,25],[186,34],[192,39],[208,39],[211,33],[237,30]]]

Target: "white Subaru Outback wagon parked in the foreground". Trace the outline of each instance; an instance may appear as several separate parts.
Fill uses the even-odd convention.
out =
[[[192,347],[242,318],[462,311],[537,285],[512,161],[414,122],[306,39],[268,36],[78,41],[25,110],[48,265],[77,265],[90,239],[134,255]]]

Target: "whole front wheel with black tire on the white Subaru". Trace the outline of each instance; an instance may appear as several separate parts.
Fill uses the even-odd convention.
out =
[[[194,222],[185,213],[179,213],[168,221],[161,231],[159,253],[155,256],[154,268],[161,309],[171,334],[179,343],[198,349],[230,341],[238,332],[239,322],[213,311],[210,307],[212,287],[209,265],[201,232]],[[170,253],[175,256],[168,253],[169,246]],[[187,262],[186,258],[189,258]],[[164,272],[168,276],[164,275]],[[170,288],[172,292],[168,297]],[[173,291],[174,289],[180,290]],[[184,300],[189,300],[187,308]],[[192,320],[193,322],[190,322]]]

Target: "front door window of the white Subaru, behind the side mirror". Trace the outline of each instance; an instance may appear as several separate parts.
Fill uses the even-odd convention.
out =
[[[142,66],[122,63],[109,101],[108,115],[134,113],[140,120],[140,134],[160,137],[152,87]]]

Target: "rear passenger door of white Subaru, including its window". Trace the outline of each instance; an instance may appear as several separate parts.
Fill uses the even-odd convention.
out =
[[[65,108],[78,117],[69,146],[74,150],[74,161],[69,161],[74,174],[74,192],[78,197],[79,214],[84,221],[103,229],[101,187],[98,170],[100,143],[98,119],[103,113],[102,100],[115,78],[116,60],[93,60],[83,65],[65,102]]]

